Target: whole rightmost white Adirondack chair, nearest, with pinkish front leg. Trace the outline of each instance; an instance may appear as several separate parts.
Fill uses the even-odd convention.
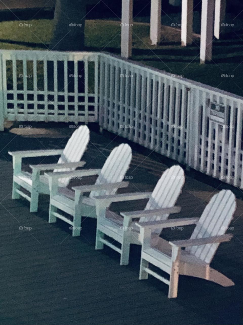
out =
[[[142,253],[139,279],[151,274],[168,284],[168,298],[176,298],[179,274],[206,279],[224,287],[234,285],[222,273],[210,267],[210,263],[221,242],[229,241],[233,234],[225,234],[236,209],[235,195],[230,190],[215,194],[205,207],[200,218],[180,218],[168,221],[143,222],[137,224],[142,233]],[[196,224],[190,239],[166,241],[157,237],[151,241],[154,228],[181,227]],[[185,247],[185,250],[181,250]],[[152,271],[149,263],[170,275],[165,279]]]

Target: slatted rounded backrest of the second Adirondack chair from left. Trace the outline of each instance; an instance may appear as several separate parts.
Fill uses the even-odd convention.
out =
[[[120,146],[114,148],[109,157],[107,158],[104,166],[102,167],[100,174],[95,184],[107,184],[121,182],[129,168],[132,160],[132,149],[126,144],[122,143]],[[101,190],[92,191],[89,197],[98,195],[110,195],[115,194],[116,190]]]

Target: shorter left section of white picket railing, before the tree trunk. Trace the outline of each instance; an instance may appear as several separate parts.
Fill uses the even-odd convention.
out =
[[[6,120],[97,122],[97,53],[3,50],[0,60]]]

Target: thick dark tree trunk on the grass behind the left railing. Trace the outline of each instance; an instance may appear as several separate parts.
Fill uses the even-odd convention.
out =
[[[86,0],[56,0],[50,50],[83,51]]]

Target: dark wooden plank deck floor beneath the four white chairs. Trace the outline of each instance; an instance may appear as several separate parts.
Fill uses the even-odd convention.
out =
[[[119,254],[110,248],[95,251],[95,220],[85,219],[80,238],[72,238],[65,223],[48,224],[46,197],[41,198],[39,212],[34,214],[29,213],[27,201],[11,199],[12,160],[7,151],[63,148],[73,131],[64,127],[57,132],[49,129],[46,134],[46,130],[35,132],[33,127],[29,136],[29,130],[21,131],[27,136],[19,135],[19,129],[10,130],[17,134],[9,130],[0,133],[1,325],[243,324],[241,200],[237,200],[237,211],[230,225],[234,227],[234,238],[220,245],[212,262],[235,286],[223,288],[181,276],[178,298],[168,299],[165,284],[152,277],[139,281],[140,247],[132,247],[129,266],[120,266]],[[117,145],[116,140],[92,132],[84,157],[88,167],[102,166],[110,149]],[[133,151],[127,173],[133,177],[130,189],[152,190],[166,167],[168,162],[163,157],[157,159],[153,153],[146,157]],[[180,216],[199,216],[213,193],[215,188],[187,175],[178,201],[182,206]],[[32,229],[19,230],[20,226]],[[162,235],[184,239],[190,236],[191,229],[185,227],[179,234],[169,229]]]

